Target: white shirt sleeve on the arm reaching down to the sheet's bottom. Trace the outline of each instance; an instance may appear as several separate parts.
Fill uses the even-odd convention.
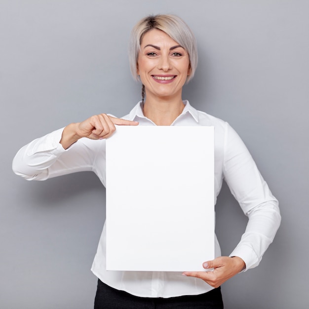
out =
[[[233,196],[249,218],[246,230],[230,256],[242,258],[248,270],[261,262],[279,228],[281,216],[277,199],[246,146],[228,124],[223,171]]]

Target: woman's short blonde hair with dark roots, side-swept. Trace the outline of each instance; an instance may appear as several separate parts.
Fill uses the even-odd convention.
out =
[[[139,80],[137,60],[143,36],[152,29],[165,32],[186,49],[189,54],[191,68],[191,74],[187,78],[188,82],[193,77],[197,66],[196,40],[189,26],[180,17],[170,14],[147,16],[140,20],[132,29],[129,40],[129,62],[134,79]]]

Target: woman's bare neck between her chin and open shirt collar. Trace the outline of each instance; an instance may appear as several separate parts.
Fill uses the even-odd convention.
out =
[[[143,113],[156,125],[171,125],[182,113],[185,105],[181,97],[155,97],[146,96]]]

